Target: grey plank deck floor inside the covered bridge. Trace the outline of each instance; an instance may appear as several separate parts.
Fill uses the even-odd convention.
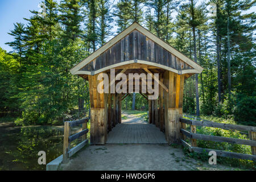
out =
[[[149,124],[141,118],[129,117],[109,132],[106,143],[167,144],[167,141],[164,133],[155,125]]]

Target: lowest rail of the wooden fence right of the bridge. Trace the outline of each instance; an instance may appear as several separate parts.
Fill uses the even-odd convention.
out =
[[[221,151],[209,148],[200,148],[200,147],[191,147],[191,150],[198,153],[210,152],[215,151],[217,156],[222,156],[226,158],[236,158],[236,159],[245,159],[245,160],[253,160],[256,161],[256,155],[249,155],[249,154],[238,154],[236,152],[228,152],[228,151]]]

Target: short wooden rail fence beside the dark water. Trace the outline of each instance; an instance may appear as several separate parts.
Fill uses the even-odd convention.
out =
[[[77,121],[66,121],[64,123],[64,144],[63,144],[63,163],[64,164],[68,163],[68,158],[76,154],[77,151],[79,151],[82,147],[85,146],[86,143],[88,143],[88,139],[86,138],[86,134],[89,131],[87,129],[88,121],[89,121],[89,118],[84,118]],[[82,131],[70,136],[71,128],[79,125],[82,125]],[[82,137],[82,142],[77,144],[77,146],[69,149],[70,143],[79,137]]]

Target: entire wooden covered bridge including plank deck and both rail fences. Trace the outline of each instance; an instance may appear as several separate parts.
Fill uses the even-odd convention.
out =
[[[190,151],[204,152],[210,151],[211,149],[197,147],[197,139],[228,142],[251,146],[252,155],[214,150],[218,156],[255,161],[256,127],[228,125],[225,123],[183,118],[184,80],[202,71],[203,68],[200,65],[159,39],[138,23],[133,23],[126,30],[122,31],[71,69],[73,75],[79,75],[89,81],[91,106],[90,144],[106,144],[112,142],[181,143],[188,147]],[[105,73],[105,76],[107,76],[107,84],[102,84],[102,82],[106,81],[106,77],[100,76],[104,75],[101,73]],[[122,88],[120,87],[120,90],[117,88],[112,89],[112,86],[119,82],[119,73],[123,73],[122,75],[125,75],[126,79],[123,80],[120,77],[120,80],[122,80]],[[135,73],[137,75],[144,73],[150,77],[135,77],[135,79],[131,77],[130,79],[129,75],[131,73],[133,73],[133,76]],[[156,73],[158,73],[158,76],[155,76]],[[134,80],[135,82],[130,82],[130,80]],[[148,82],[149,80],[154,80],[154,84],[152,84],[153,81]],[[143,86],[146,86],[147,89],[143,90]],[[154,97],[154,100],[152,100],[152,96],[155,93],[152,90],[154,92],[156,90],[159,91],[156,95],[157,97]],[[121,103],[127,97],[127,94],[134,92],[141,93],[148,100],[150,124],[123,125],[121,119]],[[65,122],[63,155],[53,160],[47,167],[56,167],[61,161],[67,163],[70,156],[85,146],[88,142],[86,138],[86,134],[89,132],[87,129],[88,121],[89,118],[84,118],[77,121]],[[71,127],[81,124],[82,131],[70,135]],[[190,132],[186,130],[186,125],[191,125]],[[250,139],[196,134],[196,126],[217,127],[232,131],[248,131]],[[80,137],[82,137],[82,142],[70,149],[70,142]],[[133,139],[129,141],[127,137]],[[191,140],[191,144],[186,142],[188,141],[186,138]]]

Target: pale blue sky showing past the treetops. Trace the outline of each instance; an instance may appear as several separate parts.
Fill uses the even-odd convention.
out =
[[[0,47],[7,52],[12,48],[6,45],[7,42],[12,42],[14,39],[11,35],[7,34],[13,30],[14,23],[24,23],[26,20],[23,18],[30,18],[32,15],[29,10],[39,10],[39,3],[42,0],[0,0]],[[58,0],[59,1],[59,0]],[[116,2],[116,0],[114,0]],[[200,0],[203,1],[203,0]],[[253,7],[249,12],[256,11]],[[116,30],[116,27],[114,28]]]

